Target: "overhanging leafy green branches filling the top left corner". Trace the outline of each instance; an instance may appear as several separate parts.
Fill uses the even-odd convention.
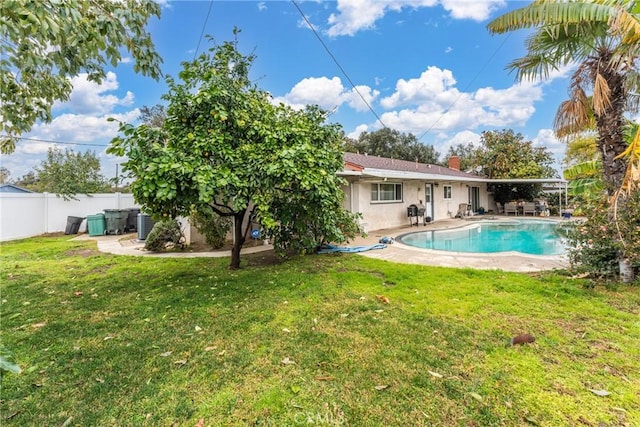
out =
[[[69,99],[69,77],[85,71],[100,83],[121,48],[136,72],[158,78],[161,58],[145,30],[152,16],[160,16],[152,0],[0,1],[0,150],[12,152],[17,136],[51,121],[53,103]]]

